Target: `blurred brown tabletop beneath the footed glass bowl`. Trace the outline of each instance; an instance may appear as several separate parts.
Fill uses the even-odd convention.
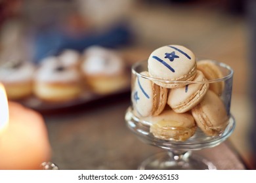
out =
[[[68,112],[44,115],[53,148],[51,161],[59,169],[137,169],[161,148],[141,142],[125,124],[129,93]],[[217,169],[246,169],[228,141],[214,148],[196,151]]]

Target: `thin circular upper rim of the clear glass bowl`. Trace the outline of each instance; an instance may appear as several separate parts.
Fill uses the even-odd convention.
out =
[[[198,60],[197,62],[200,62],[200,61],[203,61],[205,59],[200,59]],[[140,64],[142,63],[146,63],[147,60],[144,59],[142,61],[138,61],[136,63],[134,63],[131,67],[131,71],[134,75],[137,75],[139,77],[142,77],[142,78],[146,78],[148,80],[152,80],[152,81],[155,81],[155,82],[163,82],[163,83],[166,83],[166,84],[205,84],[205,83],[217,83],[217,82],[223,82],[224,80],[228,80],[230,78],[232,78],[232,76],[234,75],[234,71],[233,69],[227,65],[226,63],[223,63],[223,62],[219,62],[219,61],[216,61],[214,59],[207,59],[208,61],[211,61],[212,63],[214,63],[215,65],[218,65],[219,67],[222,67],[224,69],[227,69],[229,71],[228,75],[225,75],[221,78],[216,78],[216,79],[213,79],[213,80],[203,80],[203,81],[187,81],[187,80],[165,80],[165,79],[160,79],[160,78],[155,78],[155,77],[152,77],[152,76],[146,76],[146,75],[142,75],[140,73],[137,73],[137,71],[135,71],[135,68],[138,67]]]

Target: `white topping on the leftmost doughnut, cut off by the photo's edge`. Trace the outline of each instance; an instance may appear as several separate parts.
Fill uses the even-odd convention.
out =
[[[8,65],[7,65],[8,64]],[[28,61],[20,63],[19,67],[11,67],[7,63],[0,67],[0,81],[6,83],[28,82],[32,80],[35,67]]]

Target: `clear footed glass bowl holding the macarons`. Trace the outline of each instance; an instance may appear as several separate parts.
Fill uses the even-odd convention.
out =
[[[150,118],[144,118],[136,112],[135,101],[133,99],[135,81],[137,77],[143,77],[152,82],[171,82],[168,80],[159,80],[157,78],[152,78],[150,76],[140,75],[142,71],[147,71],[147,61],[142,61],[135,63],[132,67],[132,82],[131,82],[131,101],[132,104],[125,114],[125,121],[127,127],[135,134],[142,142],[150,144],[152,146],[158,146],[165,149],[165,152],[155,154],[154,156],[144,160],[138,169],[217,169],[213,162],[198,156],[194,151],[202,150],[203,148],[212,148],[221,144],[225,141],[232,132],[234,131],[236,122],[232,114],[230,114],[230,103],[232,95],[232,69],[224,64],[217,61],[211,61],[215,66],[219,67],[223,77],[215,80],[205,80],[203,82],[208,82],[209,84],[215,84],[218,82],[223,83],[223,91],[219,94],[219,97],[224,103],[226,108],[226,113],[228,115],[228,121],[226,122],[226,127],[218,135],[209,136],[205,135],[203,131],[197,127],[196,133],[187,139],[186,141],[175,141],[174,139],[160,139],[155,137],[150,132],[150,126],[153,124]],[[177,82],[184,85],[198,84],[203,82]],[[175,129],[175,127],[174,127]],[[192,153],[193,152],[193,153]]]

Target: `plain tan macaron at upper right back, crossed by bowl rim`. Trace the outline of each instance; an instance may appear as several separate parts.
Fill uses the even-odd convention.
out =
[[[219,67],[211,60],[204,59],[198,61],[198,70],[202,71],[207,80],[214,80],[217,78],[223,78],[223,73]],[[221,95],[224,90],[224,82],[213,82],[209,86],[209,90],[212,90],[217,95]]]

